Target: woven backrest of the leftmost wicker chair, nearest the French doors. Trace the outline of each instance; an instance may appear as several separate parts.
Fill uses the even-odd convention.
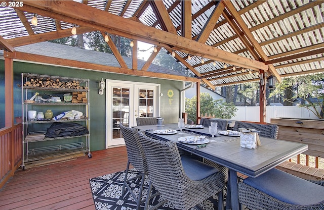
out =
[[[138,130],[119,124],[120,132],[123,135],[128,161],[140,172],[147,172],[147,163],[144,150],[138,138]]]

